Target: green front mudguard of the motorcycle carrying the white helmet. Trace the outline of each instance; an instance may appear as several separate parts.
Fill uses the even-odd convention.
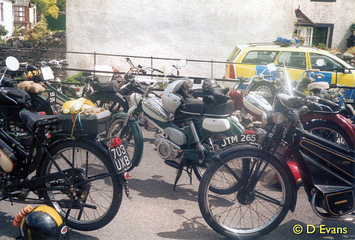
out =
[[[115,118],[126,119],[127,112],[118,112],[112,116],[112,120]],[[131,117],[131,119],[129,120],[129,124],[131,125],[133,136],[134,136],[134,154],[132,156],[131,161],[132,161],[132,165],[134,167],[137,167],[140,164],[140,160],[142,159],[143,156],[143,135],[136,119]]]

